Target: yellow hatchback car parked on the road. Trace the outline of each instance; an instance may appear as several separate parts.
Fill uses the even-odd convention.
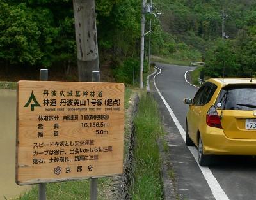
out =
[[[200,166],[212,155],[256,155],[256,80],[212,78],[184,103],[186,145],[198,147]]]

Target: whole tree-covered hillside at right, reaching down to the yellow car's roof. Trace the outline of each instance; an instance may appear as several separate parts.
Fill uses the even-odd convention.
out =
[[[209,77],[255,77],[256,1],[164,0],[163,31],[199,50]]]

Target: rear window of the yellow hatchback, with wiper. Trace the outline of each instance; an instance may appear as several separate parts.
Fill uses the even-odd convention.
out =
[[[215,106],[224,110],[256,110],[256,86],[227,85],[221,89]]]

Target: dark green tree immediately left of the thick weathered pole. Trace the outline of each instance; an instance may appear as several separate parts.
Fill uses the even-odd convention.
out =
[[[74,62],[76,39],[71,0],[28,0],[33,20],[41,32],[38,45],[43,52],[38,64],[49,67],[56,62]]]

